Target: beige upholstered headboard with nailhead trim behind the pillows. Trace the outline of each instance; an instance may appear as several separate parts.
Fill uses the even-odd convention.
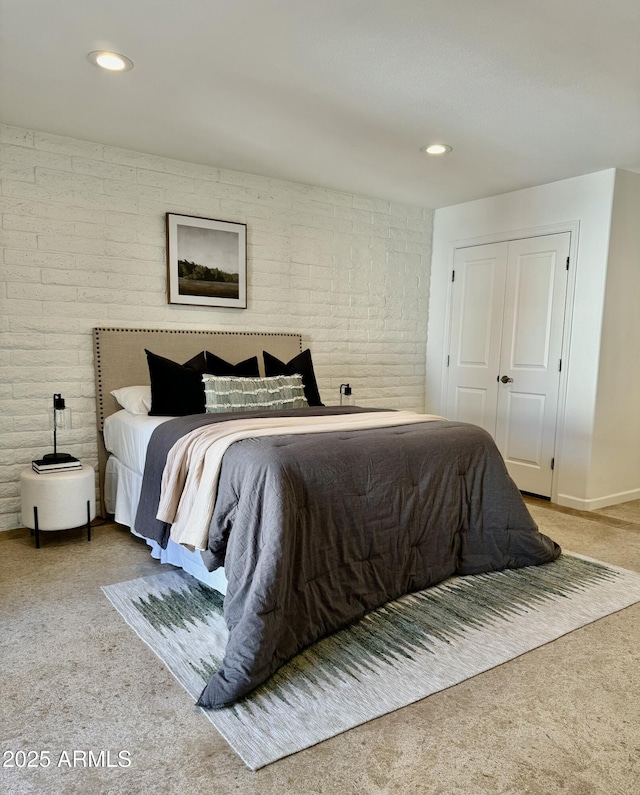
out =
[[[101,497],[107,462],[102,429],[105,419],[119,409],[111,391],[149,383],[145,348],[180,364],[203,350],[211,351],[232,364],[257,356],[261,372],[264,367],[263,350],[282,361],[289,361],[302,351],[301,335],[286,333],[96,328],[93,339]]]

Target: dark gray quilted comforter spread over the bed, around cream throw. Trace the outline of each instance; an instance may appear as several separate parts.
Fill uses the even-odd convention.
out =
[[[166,454],[184,433],[229,418],[182,417],[154,432],[138,532],[166,546],[169,527],[155,519]],[[202,553],[211,571],[225,568],[229,640],[198,704],[234,703],[305,646],[402,594],[559,554],[476,426],[439,421],[237,442],[224,456]]]

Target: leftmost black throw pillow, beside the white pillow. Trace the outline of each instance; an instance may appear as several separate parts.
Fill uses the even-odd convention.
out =
[[[151,380],[151,410],[156,417],[183,417],[204,414],[204,384],[206,372],[204,351],[185,364],[172,362],[145,348]]]

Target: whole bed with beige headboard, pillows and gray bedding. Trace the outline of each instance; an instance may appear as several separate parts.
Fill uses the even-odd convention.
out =
[[[114,399],[149,382],[153,357],[181,367],[203,351],[232,367],[257,358],[255,383],[194,377],[207,410],[175,417]],[[295,334],[95,330],[105,508],[155,557],[225,594],[229,641],[198,702],[206,708],[233,704],[302,648],[404,593],[560,554],[485,431],[324,406],[317,386],[310,398],[308,373],[268,372],[305,353]],[[225,392],[228,383],[236,391]],[[238,383],[268,384],[289,402],[239,409],[229,397]]]

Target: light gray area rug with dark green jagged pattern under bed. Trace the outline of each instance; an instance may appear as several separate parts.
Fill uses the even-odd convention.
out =
[[[197,699],[224,655],[222,597],[182,572],[103,590]],[[237,705],[203,712],[256,770],[638,601],[640,575],[566,554],[452,578],[319,641]]]

